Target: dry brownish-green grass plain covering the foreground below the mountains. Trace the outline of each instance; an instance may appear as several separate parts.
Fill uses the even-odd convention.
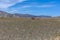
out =
[[[50,40],[56,35],[60,35],[58,19],[0,18],[0,40]]]

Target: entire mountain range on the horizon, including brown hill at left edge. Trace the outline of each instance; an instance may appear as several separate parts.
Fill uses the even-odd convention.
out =
[[[36,15],[19,14],[19,13],[10,14],[10,13],[4,12],[4,11],[0,11],[0,17],[38,17],[38,18],[51,18],[51,16],[45,16],[45,15],[36,16]]]

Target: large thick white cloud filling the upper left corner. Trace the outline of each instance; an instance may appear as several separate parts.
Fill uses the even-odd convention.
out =
[[[13,6],[19,2],[23,2],[26,0],[0,0],[0,8],[8,8],[10,6]]]

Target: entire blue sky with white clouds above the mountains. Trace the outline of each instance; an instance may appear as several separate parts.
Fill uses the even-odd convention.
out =
[[[0,10],[12,14],[60,16],[60,0],[0,0]]]

